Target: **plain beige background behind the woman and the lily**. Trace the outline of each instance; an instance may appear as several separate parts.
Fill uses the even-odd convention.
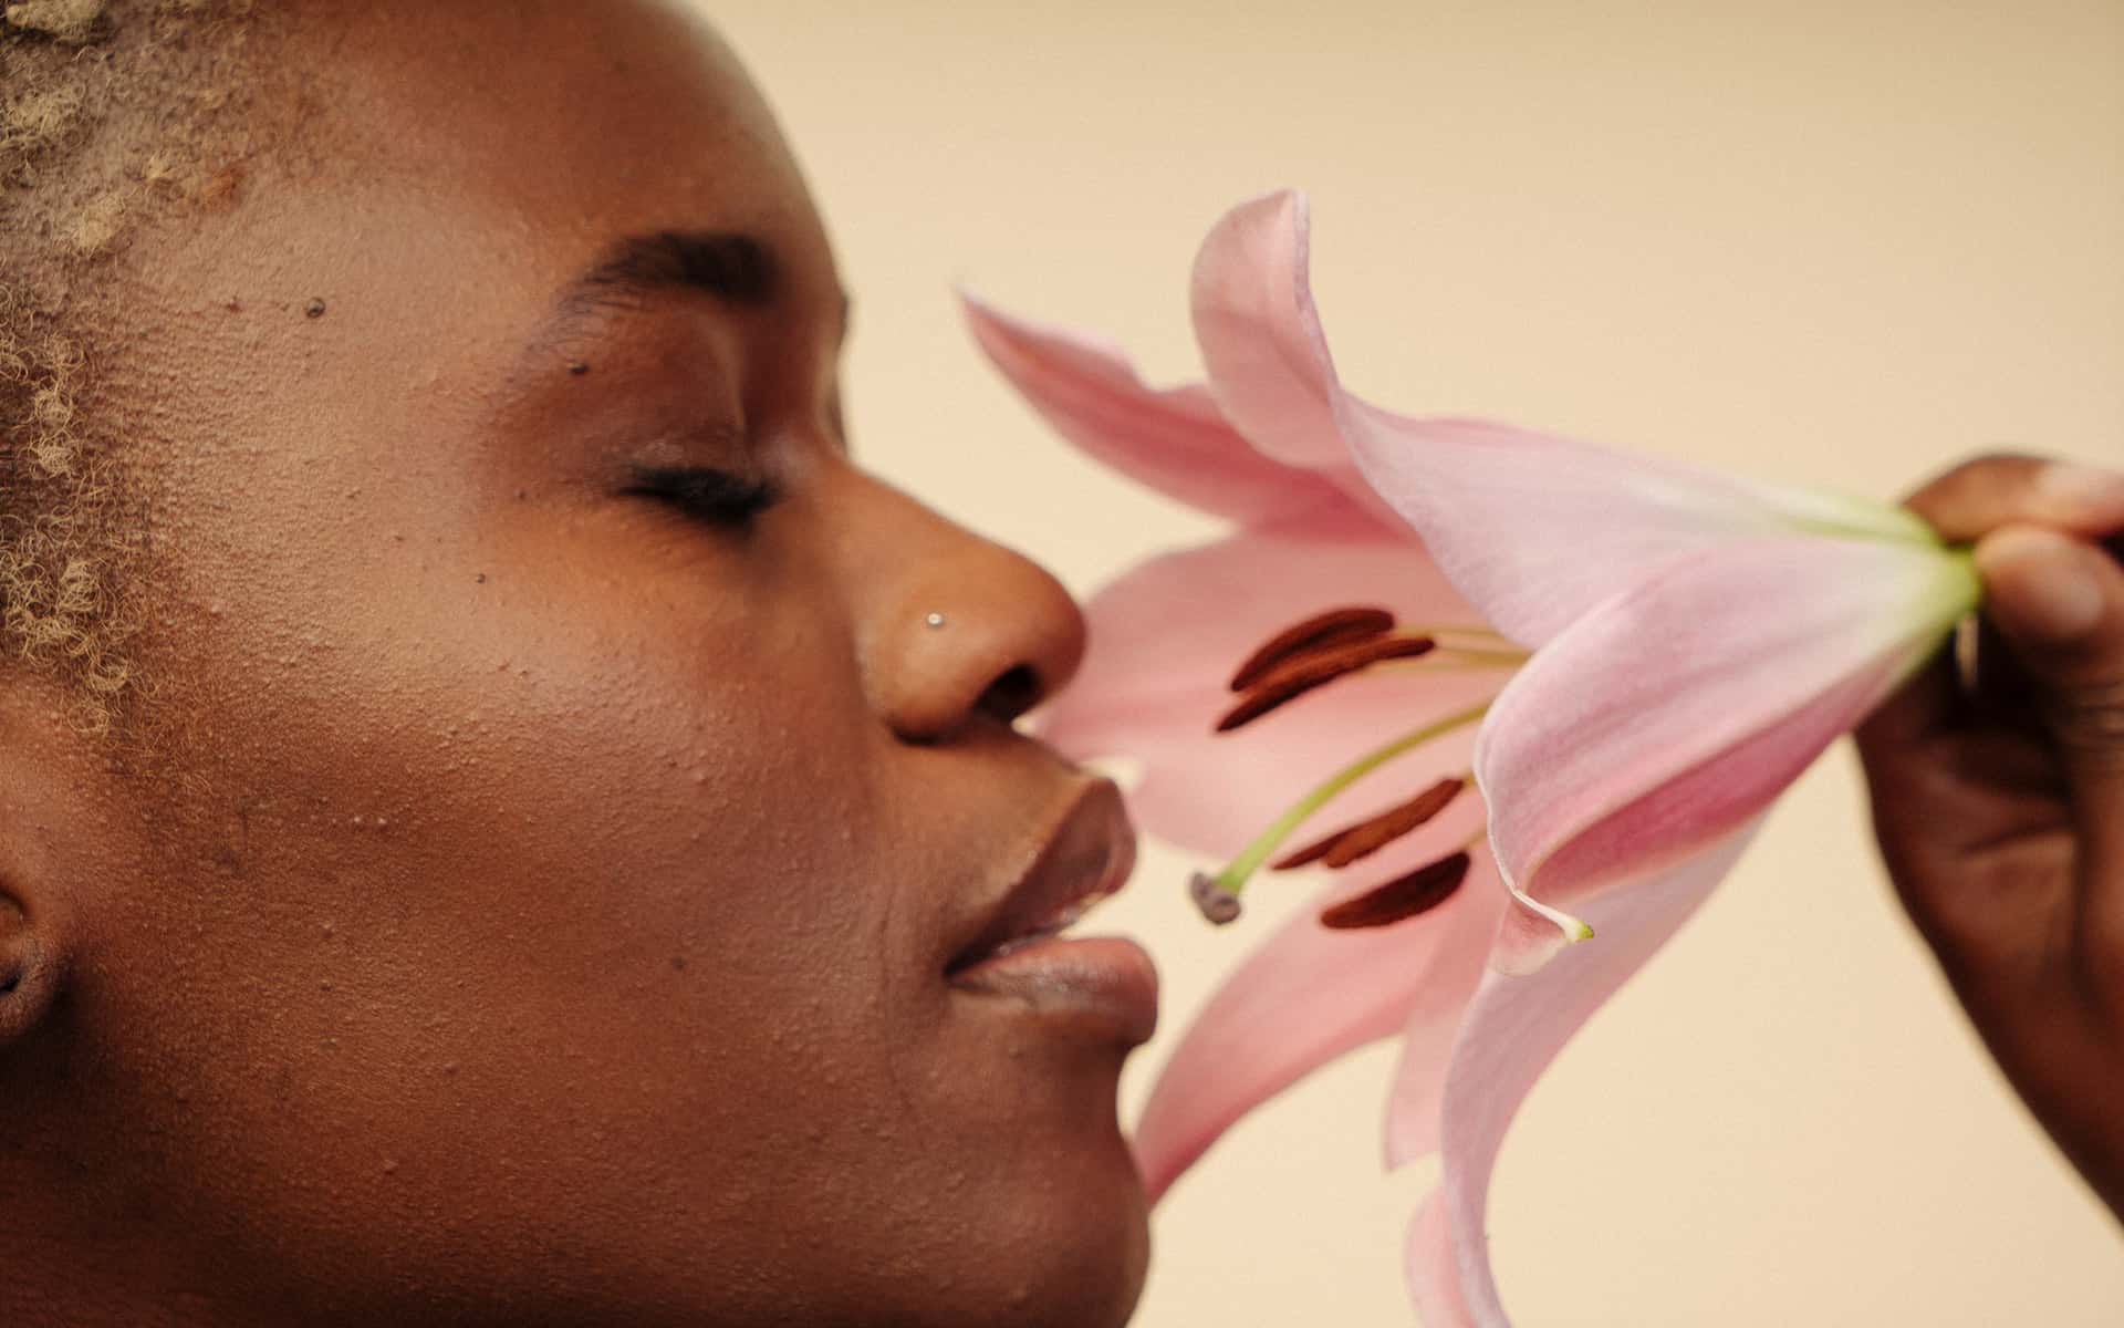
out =
[[[947,283],[1183,376],[1196,242],[1285,183],[1344,374],[1389,406],[1875,495],[1992,446],[2124,463],[2118,0],[712,8],[839,236],[860,450],[1077,591],[1211,527],[1041,433]],[[1858,797],[1839,750],[1536,1090],[1491,1228],[1521,1324],[2124,1324],[2124,1239],[1963,1026]],[[1247,943],[1185,869],[1151,852],[1109,914],[1168,1028]],[[1389,1065],[1179,1186],[1145,1328],[1412,1320],[1432,1173],[1381,1175]]]

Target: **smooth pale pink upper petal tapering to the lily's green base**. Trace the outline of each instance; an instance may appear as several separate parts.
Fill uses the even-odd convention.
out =
[[[1349,393],[1366,478],[1506,635],[1538,646],[1676,557],[1735,538],[1935,544],[1909,512],[1737,480],[1485,421],[1404,419]]]

